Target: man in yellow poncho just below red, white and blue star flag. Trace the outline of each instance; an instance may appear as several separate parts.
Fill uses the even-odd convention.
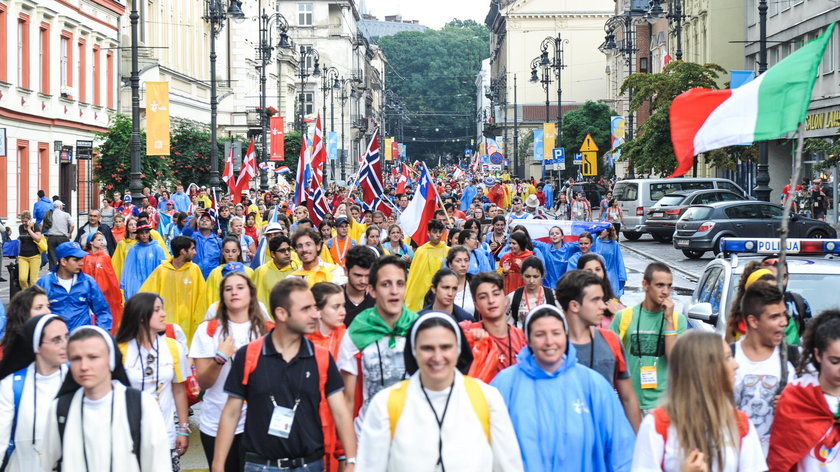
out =
[[[423,308],[423,297],[432,286],[432,276],[443,266],[446,253],[449,252],[443,241],[443,223],[435,219],[429,221],[426,228],[429,242],[417,248],[414,253],[405,288],[405,304],[415,312]]]

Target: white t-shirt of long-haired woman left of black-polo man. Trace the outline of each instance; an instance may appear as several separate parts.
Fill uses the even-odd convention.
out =
[[[238,350],[240,347],[248,344],[256,339],[251,333],[251,322],[244,323],[229,323],[228,329],[230,335],[233,336],[233,345]],[[222,327],[218,326],[216,332],[211,338],[207,334],[207,322],[198,325],[193,336],[193,343],[190,346],[190,357],[193,359],[206,359],[216,357],[216,351],[219,348],[219,343],[222,340]],[[216,436],[219,429],[219,417],[222,414],[222,408],[225,406],[228,395],[225,393],[225,380],[230,374],[230,367],[233,364],[233,358],[222,366],[219,372],[219,377],[216,378],[216,383],[210,388],[204,390],[204,397],[201,403],[201,417],[199,418],[199,429],[202,433]],[[239,417],[239,424],[236,426],[236,433],[239,434],[245,429],[245,413],[247,411],[246,405],[242,404],[242,415]]]

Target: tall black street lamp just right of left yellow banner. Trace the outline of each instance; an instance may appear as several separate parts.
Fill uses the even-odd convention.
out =
[[[237,20],[245,18],[245,14],[242,13],[241,0],[230,0],[227,8],[225,8],[224,3],[224,0],[204,0],[204,16],[202,17],[204,21],[210,23],[210,188],[216,190],[221,185],[219,181],[219,145],[216,133],[216,114],[219,107],[219,98],[216,96],[216,36],[222,31],[225,26],[224,22],[228,17]]]

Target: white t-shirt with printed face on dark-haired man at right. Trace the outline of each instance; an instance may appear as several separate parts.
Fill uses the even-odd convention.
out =
[[[755,425],[761,448],[767,456],[770,445],[770,426],[773,425],[773,397],[779,388],[782,377],[782,363],[779,348],[763,361],[751,361],[741,348],[743,339],[735,343],[735,360],[738,370],[735,373],[735,408],[743,411]],[[788,361],[788,382],[794,378],[795,368]]]

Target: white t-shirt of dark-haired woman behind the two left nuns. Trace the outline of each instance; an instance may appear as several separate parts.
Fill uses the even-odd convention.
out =
[[[187,353],[181,343],[178,346],[178,364],[181,382],[189,376],[189,363]],[[151,358],[149,357],[151,354]],[[148,362],[150,359],[151,362]],[[130,341],[127,345],[125,358],[123,359],[125,373],[131,386],[142,390],[157,400],[160,412],[163,414],[163,423],[169,435],[169,448],[175,449],[175,425],[178,422],[175,397],[172,394],[172,384],[178,383],[175,376],[175,360],[169,351],[169,345],[164,335],[158,335],[152,344],[152,349],[141,348],[137,341]],[[151,366],[152,375],[145,375],[146,367]]]

